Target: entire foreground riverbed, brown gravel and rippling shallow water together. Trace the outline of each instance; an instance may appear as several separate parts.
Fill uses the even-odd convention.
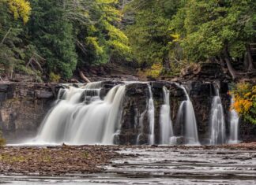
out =
[[[255,184],[256,142],[225,146],[5,146],[6,184]]]

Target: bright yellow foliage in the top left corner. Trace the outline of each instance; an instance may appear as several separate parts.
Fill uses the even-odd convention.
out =
[[[27,0],[8,0],[8,4],[14,19],[21,18],[26,24],[31,13],[30,3]]]

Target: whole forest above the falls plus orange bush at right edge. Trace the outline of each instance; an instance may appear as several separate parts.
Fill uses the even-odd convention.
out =
[[[110,63],[153,78],[201,62],[220,64],[232,80],[255,74],[254,0],[0,0],[0,9],[1,80],[68,81]],[[255,91],[243,83],[231,92],[253,123]]]

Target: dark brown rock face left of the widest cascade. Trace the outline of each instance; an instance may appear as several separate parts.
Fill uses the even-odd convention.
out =
[[[43,117],[55,102],[54,83],[1,83],[0,128],[7,141],[35,135]],[[22,136],[21,136],[22,137]]]

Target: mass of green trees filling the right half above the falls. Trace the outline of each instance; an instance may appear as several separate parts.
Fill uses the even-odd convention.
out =
[[[212,61],[228,66],[246,61],[254,70],[248,44],[255,41],[256,2],[184,0],[134,0],[135,24],[127,27],[134,57],[139,62],[162,62],[164,69],[190,62]],[[175,65],[178,63],[178,65]]]

